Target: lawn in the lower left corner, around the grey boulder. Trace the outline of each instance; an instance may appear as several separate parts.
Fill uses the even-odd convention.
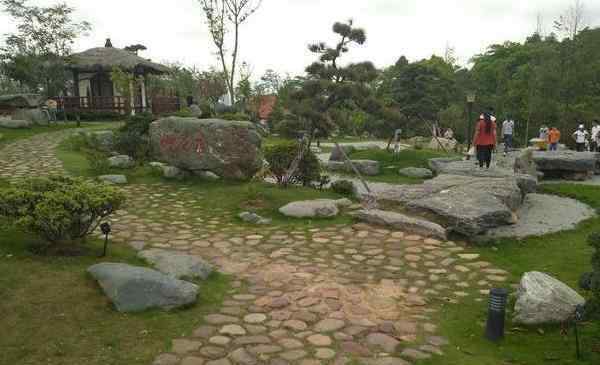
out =
[[[196,305],[181,311],[121,314],[86,269],[99,262],[144,265],[133,250],[90,242],[79,257],[38,256],[33,236],[0,226],[0,364],[147,365],[167,351],[170,340],[188,335],[203,315],[216,310],[229,278],[214,275],[201,284]]]

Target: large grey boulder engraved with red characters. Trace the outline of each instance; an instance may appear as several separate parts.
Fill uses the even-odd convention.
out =
[[[150,126],[157,159],[190,171],[247,180],[262,167],[261,137],[250,122],[169,117]]]

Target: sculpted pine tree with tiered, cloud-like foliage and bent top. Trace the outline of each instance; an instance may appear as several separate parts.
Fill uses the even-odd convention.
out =
[[[351,46],[366,42],[365,31],[349,21],[335,23],[333,32],[340,38],[335,46],[323,42],[309,46],[319,60],[306,68],[307,78],[291,96],[290,110],[306,126],[309,142],[317,131],[328,134],[335,129],[340,110],[360,110],[383,118],[391,114],[370,87],[378,76],[371,62],[340,65],[340,58]]]

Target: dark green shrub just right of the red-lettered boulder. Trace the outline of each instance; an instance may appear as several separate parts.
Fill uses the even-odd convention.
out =
[[[299,152],[300,147],[296,142],[283,142],[265,148],[265,159],[269,163],[270,174],[275,178],[277,184],[308,186],[313,181],[319,180],[321,165],[317,156],[309,149],[305,149],[304,156],[302,156],[293,176],[286,176]]]

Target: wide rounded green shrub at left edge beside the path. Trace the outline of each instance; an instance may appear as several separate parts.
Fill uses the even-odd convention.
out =
[[[51,244],[78,243],[118,210],[117,188],[81,178],[32,178],[0,190],[0,217]]]

